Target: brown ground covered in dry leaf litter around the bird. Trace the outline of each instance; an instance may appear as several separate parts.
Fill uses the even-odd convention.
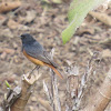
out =
[[[60,65],[64,80],[59,80],[59,93],[61,105],[64,107],[65,98],[65,77],[64,68],[79,65],[80,77],[84,73],[88,61],[92,60],[92,74],[88,81],[82,107],[89,101],[90,95],[97,92],[97,89],[103,82],[107,72],[111,65],[111,28],[103,24],[91,16],[88,16],[82,26],[77,30],[73,38],[65,44],[62,43],[61,32],[68,26],[69,3],[47,4],[36,0],[22,0],[21,8],[0,14],[0,102],[3,94],[8,91],[4,80],[13,88],[20,83],[23,73],[34,68],[21,52],[21,33],[32,34],[47,51],[54,48],[54,60]],[[111,8],[105,10],[111,17]],[[47,67],[40,68],[42,77],[34,85],[26,111],[47,111],[40,104],[38,97],[48,100],[43,91],[43,80],[50,85],[50,71]],[[111,103],[110,103],[111,104]],[[107,111],[110,111],[111,107]]]

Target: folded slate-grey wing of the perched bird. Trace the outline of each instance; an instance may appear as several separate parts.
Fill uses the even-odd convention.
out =
[[[53,62],[53,60],[51,59],[49,53],[40,44],[33,43],[31,46],[27,46],[27,47],[24,47],[24,50],[26,50],[27,54],[29,54],[36,59],[41,60],[44,63],[52,64],[54,68],[58,67]]]

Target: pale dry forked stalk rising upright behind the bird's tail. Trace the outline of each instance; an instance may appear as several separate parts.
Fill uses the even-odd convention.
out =
[[[54,50],[51,51],[51,58],[53,57],[53,52]],[[60,99],[59,99],[59,93],[58,93],[57,77],[53,70],[51,70],[51,91],[49,90],[46,82],[43,82],[43,88],[48,95],[50,104],[52,105],[53,111],[61,111],[61,104],[60,104]]]

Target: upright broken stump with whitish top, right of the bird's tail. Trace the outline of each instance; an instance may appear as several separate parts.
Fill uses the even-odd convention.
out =
[[[65,94],[65,111],[78,110],[78,91],[79,91],[79,68],[67,68],[67,94]]]

